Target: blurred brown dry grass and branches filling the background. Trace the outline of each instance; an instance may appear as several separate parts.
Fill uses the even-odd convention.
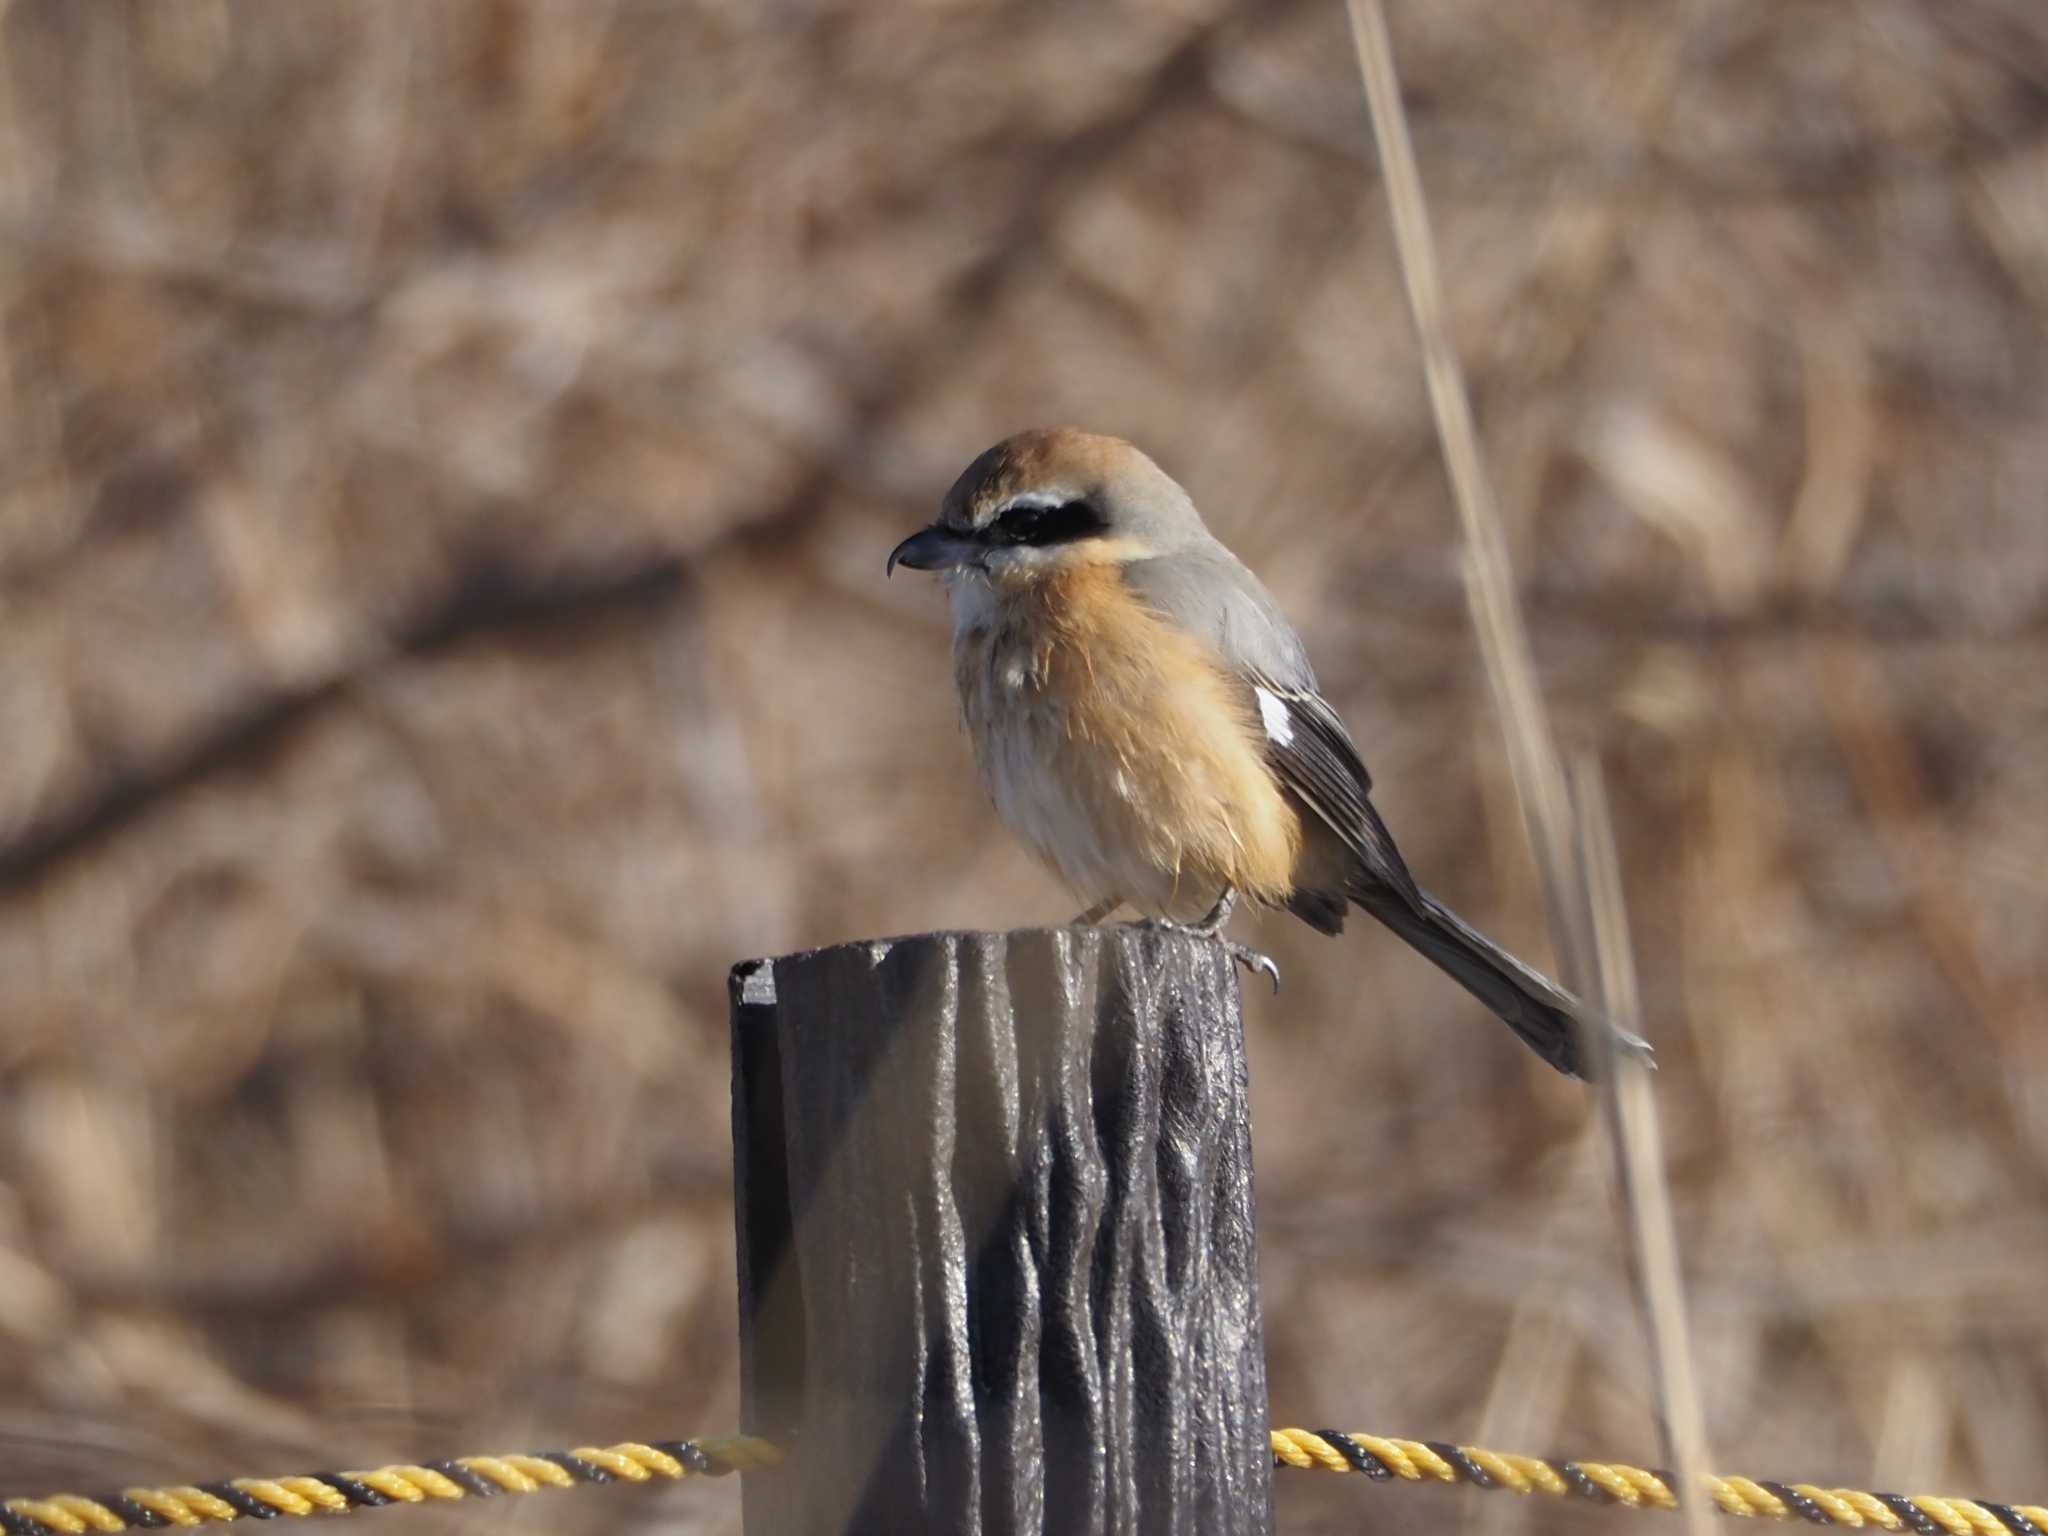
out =
[[[2048,10],[1391,20],[1716,1464],[2048,1497]],[[1550,961],[1337,0],[0,45],[6,1493],[733,1423],[727,967],[1075,909],[883,582],[1020,426],[1190,485],[1409,862]],[[1372,926],[1237,932],[1276,1417],[1657,1460],[1593,1098]]]

